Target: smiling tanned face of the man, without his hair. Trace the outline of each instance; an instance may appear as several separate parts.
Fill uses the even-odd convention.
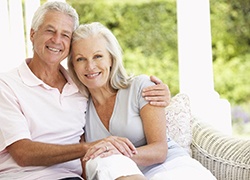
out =
[[[48,12],[37,31],[31,30],[34,57],[49,64],[59,64],[68,56],[73,18],[58,11]]]

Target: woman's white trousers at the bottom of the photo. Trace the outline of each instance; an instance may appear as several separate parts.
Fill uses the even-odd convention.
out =
[[[114,180],[118,177],[142,174],[130,158],[123,155],[97,157],[86,163],[87,180]],[[145,173],[149,180],[216,180],[200,162],[190,156],[180,156]]]

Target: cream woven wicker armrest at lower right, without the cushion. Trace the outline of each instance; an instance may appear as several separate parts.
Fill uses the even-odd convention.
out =
[[[250,139],[216,131],[195,120],[192,125],[192,156],[218,180],[250,180]]]

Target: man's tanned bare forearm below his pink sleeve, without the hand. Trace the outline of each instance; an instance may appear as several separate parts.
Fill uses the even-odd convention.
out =
[[[83,157],[88,143],[57,145],[22,139],[7,147],[20,166],[51,166]]]

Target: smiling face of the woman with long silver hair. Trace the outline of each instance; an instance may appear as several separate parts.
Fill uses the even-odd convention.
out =
[[[106,40],[100,36],[80,39],[72,44],[72,63],[79,80],[91,91],[109,88],[112,66]]]

